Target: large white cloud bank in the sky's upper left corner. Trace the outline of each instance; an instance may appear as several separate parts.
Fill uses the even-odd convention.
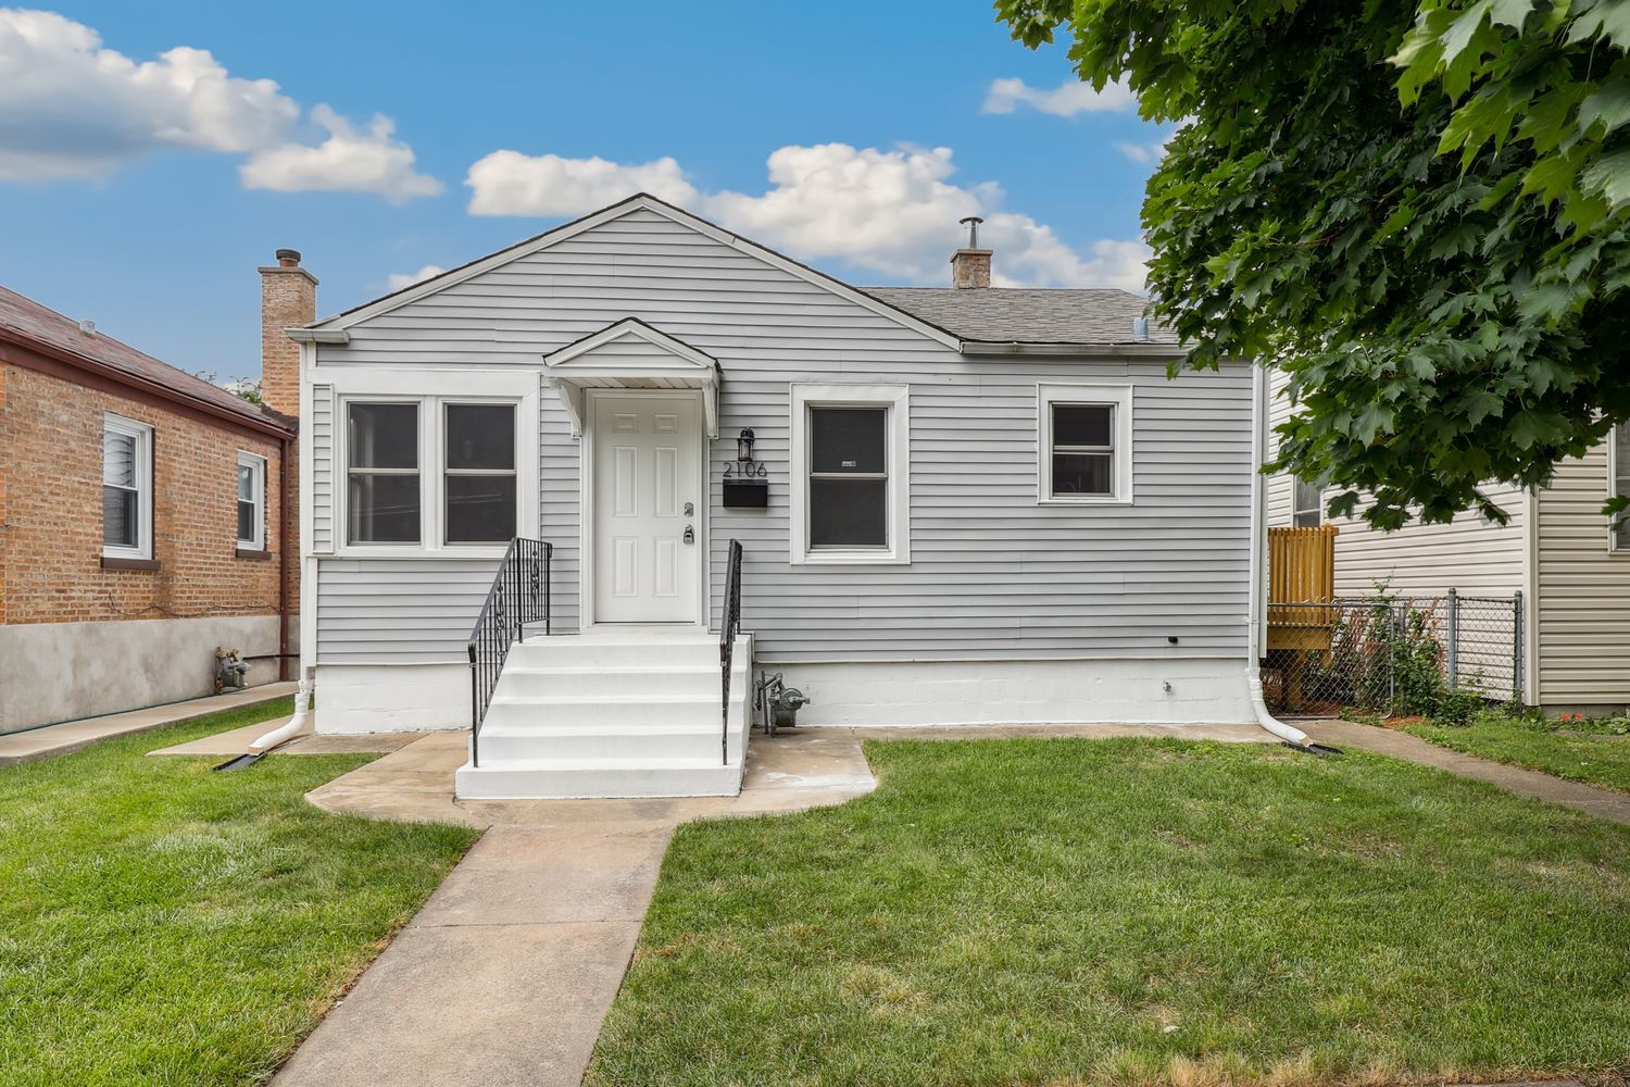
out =
[[[272,80],[230,75],[204,49],[137,62],[54,11],[0,8],[0,181],[101,178],[145,155],[249,155],[246,187],[347,189],[401,200],[440,192],[375,117],[357,134],[318,106],[319,147],[292,143],[300,106]]]

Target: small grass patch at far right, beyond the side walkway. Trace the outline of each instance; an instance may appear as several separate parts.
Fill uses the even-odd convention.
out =
[[[1568,781],[1630,792],[1630,735],[1623,720],[1568,722],[1482,712],[1467,725],[1410,725],[1421,740]],[[1619,732],[1614,732],[1614,728]]]

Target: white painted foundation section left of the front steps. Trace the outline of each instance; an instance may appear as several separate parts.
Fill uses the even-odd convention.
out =
[[[316,732],[469,728],[469,665],[318,665]]]

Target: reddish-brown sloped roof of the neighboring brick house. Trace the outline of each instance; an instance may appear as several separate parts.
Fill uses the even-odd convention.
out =
[[[217,412],[230,412],[261,425],[293,432],[293,420],[271,409],[228,393],[218,385],[192,376],[166,362],[130,347],[103,332],[86,332],[73,318],[49,310],[33,298],[0,287],[0,339],[55,357],[68,357],[111,372],[135,386],[158,386]]]

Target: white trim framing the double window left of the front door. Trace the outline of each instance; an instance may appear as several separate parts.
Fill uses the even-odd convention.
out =
[[[334,401],[333,505],[334,556],[393,559],[494,559],[502,544],[440,544],[443,403],[515,406],[515,520],[517,533],[535,536],[538,521],[538,378],[492,370],[430,370],[408,367],[329,367]],[[403,394],[401,389],[414,389]],[[419,541],[350,543],[350,404],[419,404]]]

